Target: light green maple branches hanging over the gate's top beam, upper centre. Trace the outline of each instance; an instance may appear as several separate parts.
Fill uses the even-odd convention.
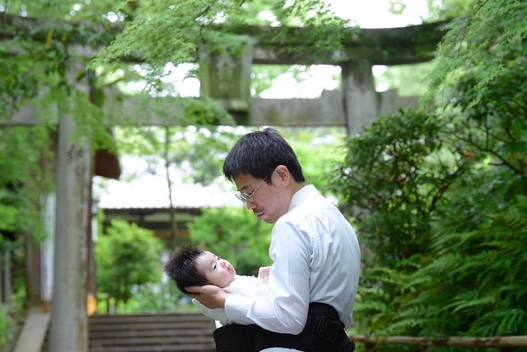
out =
[[[159,82],[164,65],[194,62],[200,50],[239,53],[252,39],[238,33],[248,24],[262,24],[258,14],[268,11],[281,26],[274,32],[257,31],[262,41],[278,41],[285,54],[301,56],[334,52],[341,48],[345,35],[335,28],[344,28],[347,22],[328,10],[321,0],[267,0],[237,2],[213,0],[142,1],[135,9],[132,20],[126,23],[122,34],[110,46],[97,52],[90,63],[91,69],[108,65],[118,58],[140,53],[149,64],[149,82]],[[308,37],[295,43],[285,42],[287,26],[316,27]],[[257,39],[258,40],[258,39]]]

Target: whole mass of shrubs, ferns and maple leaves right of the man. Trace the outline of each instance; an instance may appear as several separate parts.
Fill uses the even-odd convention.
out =
[[[358,333],[526,331],[524,13],[516,1],[473,2],[430,76],[425,103],[435,96],[437,112],[384,116],[347,142],[332,184],[373,253]]]

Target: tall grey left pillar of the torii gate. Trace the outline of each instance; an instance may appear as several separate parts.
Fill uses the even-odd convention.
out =
[[[84,67],[70,66],[70,77]],[[86,79],[75,87],[88,91]],[[72,99],[69,103],[72,104]],[[72,108],[74,108],[72,106]],[[66,110],[67,111],[67,110]],[[50,347],[53,352],[86,352],[86,231],[89,222],[91,162],[87,141],[72,141],[75,129],[71,115],[59,111],[56,228]]]

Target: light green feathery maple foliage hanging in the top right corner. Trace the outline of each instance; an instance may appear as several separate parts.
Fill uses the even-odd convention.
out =
[[[456,82],[466,72],[474,75],[475,95],[472,106],[478,104],[489,86],[505,74],[511,52],[524,48],[527,35],[527,8],[522,1],[474,0],[470,15],[455,18],[439,46],[436,66],[430,74],[430,90],[424,104],[434,97],[441,99],[443,89]],[[515,56],[519,63],[525,56]]]

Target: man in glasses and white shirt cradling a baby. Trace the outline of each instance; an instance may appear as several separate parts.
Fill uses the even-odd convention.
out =
[[[353,350],[344,333],[353,323],[360,265],[352,226],[313,185],[306,185],[294,151],[274,129],[242,136],[227,155],[223,173],[236,183],[247,209],[275,223],[269,247],[271,295],[243,297],[206,285],[188,287],[196,292],[189,296],[206,307],[225,308],[231,322],[262,328],[255,333],[256,351]]]

